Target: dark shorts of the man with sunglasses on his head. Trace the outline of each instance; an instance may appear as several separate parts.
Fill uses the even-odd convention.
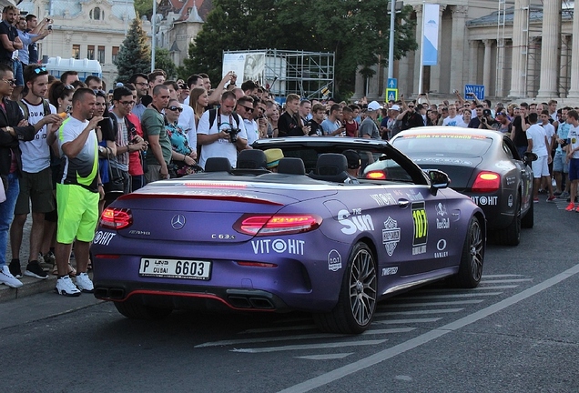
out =
[[[48,213],[55,209],[50,167],[37,173],[23,171],[19,183],[20,194],[16,199],[15,215],[30,213],[31,201],[33,213]]]

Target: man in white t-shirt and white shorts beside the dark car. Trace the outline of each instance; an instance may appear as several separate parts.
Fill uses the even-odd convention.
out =
[[[553,195],[553,186],[551,185],[551,174],[549,173],[549,164],[551,164],[551,155],[549,154],[547,146],[549,146],[549,141],[547,140],[547,135],[544,132],[544,128],[537,124],[539,116],[536,113],[529,114],[529,124],[531,125],[527,129],[527,141],[529,146],[527,146],[528,152],[533,152],[538,156],[536,161],[533,161],[533,176],[534,176],[534,186],[533,186],[533,203],[539,202],[539,186],[541,186],[541,179],[547,181],[547,187],[549,189],[549,197],[547,202],[553,202],[555,197]]]

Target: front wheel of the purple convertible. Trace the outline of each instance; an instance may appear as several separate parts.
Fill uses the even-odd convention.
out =
[[[478,287],[483,277],[484,233],[478,217],[472,217],[462,246],[461,264],[452,277],[452,287]]]

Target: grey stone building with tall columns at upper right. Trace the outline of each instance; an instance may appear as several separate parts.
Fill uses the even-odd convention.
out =
[[[406,96],[428,91],[452,96],[464,85],[485,86],[495,99],[566,99],[579,102],[579,2],[569,0],[463,0],[440,4],[438,64],[423,67],[419,86],[420,47],[394,65],[394,77]],[[421,0],[407,0],[417,20],[416,39],[422,35]],[[385,17],[388,17],[385,15]],[[387,66],[374,66],[376,75],[357,75],[354,98],[384,99]]]

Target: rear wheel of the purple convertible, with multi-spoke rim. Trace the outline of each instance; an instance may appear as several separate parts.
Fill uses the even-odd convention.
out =
[[[338,304],[329,313],[314,314],[320,330],[359,334],[370,327],[377,301],[376,268],[370,247],[357,243],[348,258]]]

